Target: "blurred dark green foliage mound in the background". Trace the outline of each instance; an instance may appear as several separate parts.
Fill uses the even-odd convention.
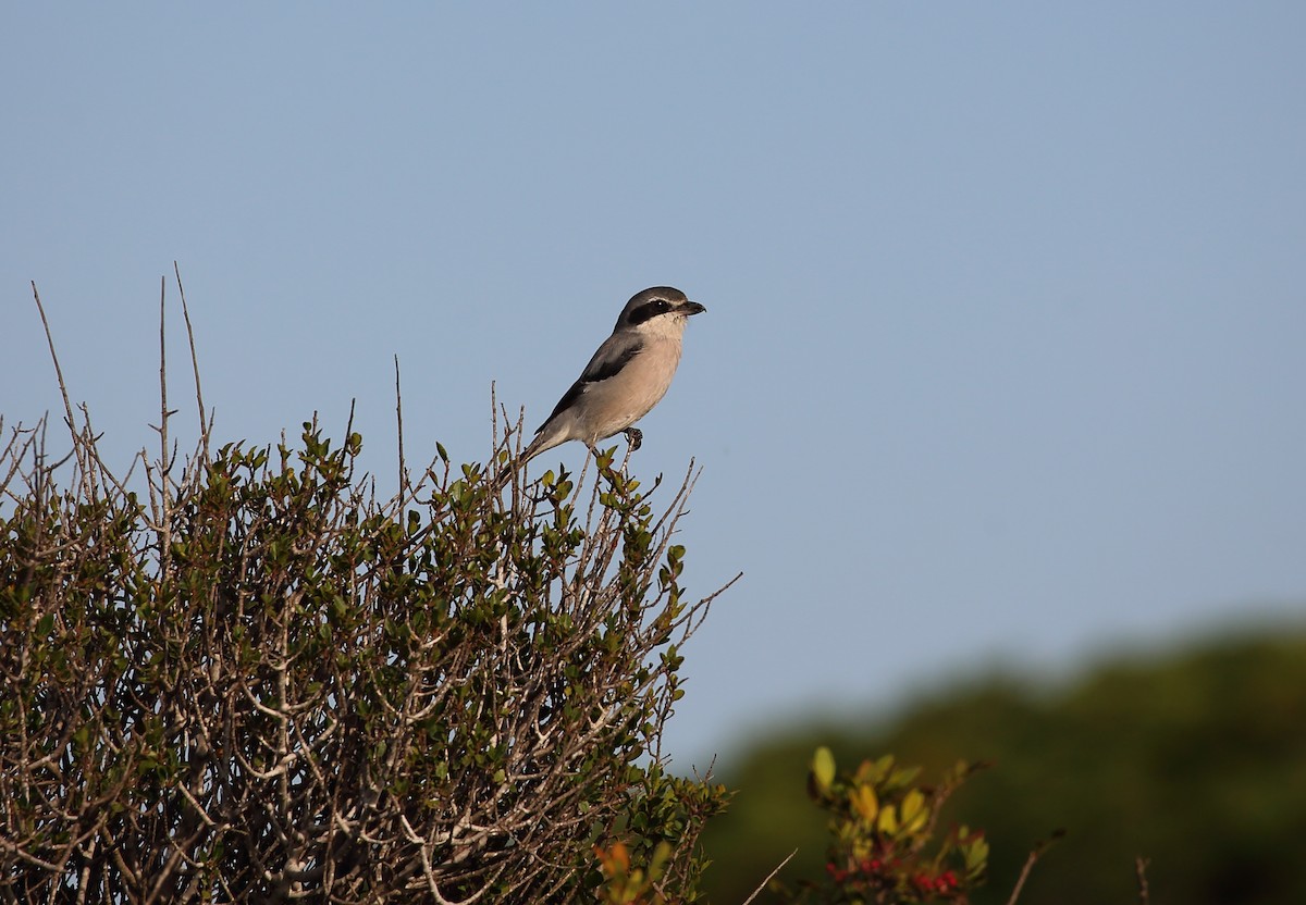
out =
[[[1055,831],[1023,905],[1139,900],[1306,902],[1306,633],[1241,633],[1100,665],[1075,682],[986,676],[853,729],[777,731],[733,767],[730,811],[704,833],[708,895],[744,901],[797,846],[781,876],[815,879],[827,816],[804,794],[811,752],[841,763],[895,754],[939,772],[990,761],[944,808],[991,848],[977,905],[1006,902],[1029,851]],[[771,893],[755,902],[781,901]]]

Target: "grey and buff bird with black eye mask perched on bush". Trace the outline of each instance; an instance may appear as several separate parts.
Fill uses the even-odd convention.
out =
[[[684,326],[704,311],[670,286],[632,295],[613,334],[535,430],[517,468],[569,440],[580,440],[594,453],[599,440],[624,434],[631,449],[639,449],[644,435],[633,424],[666,396],[680,363]]]

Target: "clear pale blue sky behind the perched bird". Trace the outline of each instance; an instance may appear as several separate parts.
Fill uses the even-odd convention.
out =
[[[1294,615],[1303,47],[1301,3],[8,4],[0,413],[60,405],[35,281],[111,456],[151,443],[175,260],[218,437],[357,398],[384,479],[396,354],[409,457],[482,460],[491,381],[534,427],[686,290],[635,468],[701,464],[690,589],[744,579],[680,768]]]

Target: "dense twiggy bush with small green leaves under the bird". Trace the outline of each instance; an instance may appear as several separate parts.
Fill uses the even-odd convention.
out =
[[[670,543],[692,474],[500,499],[504,439],[377,503],[306,423],[205,431],[142,501],[72,436],[0,454],[0,900],[572,901],[614,851],[695,897],[724,790],[660,748],[714,597]]]

